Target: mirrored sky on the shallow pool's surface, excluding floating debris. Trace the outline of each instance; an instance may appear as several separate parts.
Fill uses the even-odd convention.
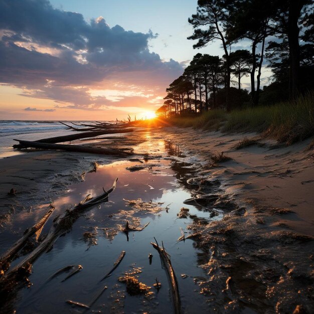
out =
[[[159,149],[158,145],[154,145],[154,148]],[[64,196],[54,202],[56,215],[58,212],[62,212],[64,208],[70,207],[71,204],[79,203],[87,194],[95,196],[102,192],[102,187],[105,190],[109,189],[114,179],[119,178],[115,191],[109,196],[110,202],[86,211],[84,216],[80,217],[73,225],[73,228],[56,241],[54,248],[43,254],[34,263],[34,273],[30,277],[34,286],[22,291],[22,300],[19,302],[18,311],[23,313],[36,311],[45,313],[67,312],[71,310],[71,306],[65,303],[66,299],[88,303],[105,284],[108,289],[92,309],[109,312],[114,301],[110,295],[117,290],[114,288],[118,283],[117,278],[124,271],[130,270],[133,263],[136,263],[137,267],[143,267],[142,273],[139,274],[140,281],[151,286],[154,283],[154,278],[158,277],[163,287],[146,307],[142,305],[141,298],[126,294],[124,311],[126,313],[148,310],[151,312],[169,312],[172,304],[169,300],[168,279],[165,270],[161,267],[158,252],[150,244],[151,241],[154,241],[153,237],[156,237],[160,244],[162,241],[164,242],[165,248],[171,255],[184,308],[187,312],[193,312],[195,302],[197,302],[199,312],[208,312],[206,299],[197,291],[198,286],[193,283],[193,278],[181,278],[183,273],[190,276],[204,276],[202,269],[197,267],[202,253],[193,248],[193,241],[187,240],[177,243],[176,240],[181,236],[180,228],[186,231],[187,225],[191,223],[191,219],[177,219],[177,213],[181,207],[189,208],[191,214],[196,214],[199,217],[209,218],[209,213],[200,212],[193,206],[183,204],[183,201],[190,198],[191,194],[177,183],[176,177],[181,177],[177,172],[179,165],[172,164],[176,169],[175,172],[170,168],[170,161],[159,163],[154,160],[149,163],[161,166],[154,166],[152,170],[145,169],[137,172],[129,172],[125,169],[137,165],[136,162],[116,162],[102,166],[96,173],[87,174],[84,182],[72,185]],[[167,176],[158,176],[158,172],[155,170],[160,170]],[[185,168],[182,171],[184,174],[191,172],[191,169]],[[153,189],[150,189],[149,186]],[[121,209],[130,209],[123,199],[137,198],[146,202],[150,200],[164,202],[164,207],[170,204],[169,211],[168,213],[162,211],[157,215],[137,213],[136,216],[141,218],[142,225],[150,223],[141,232],[130,232],[128,242],[123,233],[119,233],[110,242],[99,230],[98,245],[86,250],[88,244],[82,239],[83,233],[90,230],[90,227],[106,227],[110,223],[109,214]],[[99,278],[111,269],[122,250],[126,251],[126,255],[119,267],[112,276],[99,283]],[[148,263],[149,253],[153,254],[151,265]],[[66,274],[45,283],[45,280],[57,269],[70,264],[81,264],[83,270],[63,283],[60,281]],[[125,291],[125,286],[119,285],[119,289]],[[36,291],[38,288],[40,289]],[[157,303],[159,303],[158,306],[154,305]]]

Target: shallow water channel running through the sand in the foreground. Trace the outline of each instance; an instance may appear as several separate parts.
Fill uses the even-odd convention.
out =
[[[177,153],[177,149],[169,143],[163,144],[166,155]],[[143,166],[144,169],[126,169],[135,165]],[[207,280],[203,269],[199,267],[199,263],[204,263],[202,252],[193,247],[192,240],[177,242],[183,231],[188,232],[187,226],[192,221],[189,217],[178,218],[177,214],[182,207],[188,208],[191,215],[208,221],[221,218],[210,218],[209,212],[183,203],[191,198],[193,190],[182,182],[193,177],[193,172],[191,165],[175,161],[170,156],[142,164],[138,161],[119,161],[100,166],[96,172],[86,174],[83,182],[69,186],[64,195],[54,201],[54,215],[79,203],[87,194],[95,196],[102,192],[102,187],[109,189],[114,179],[118,178],[115,191],[109,195],[109,202],[87,210],[68,233],[58,238],[53,249],[33,264],[33,272],[29,277],[33,284],[21,291],[17,300],[17,313],[173,312],[166,271],[158,252],[150,244],[154,242],[154,237],[160,245],[163,241],[171,256],[179,284],[182,312],[209,312],[210,304],[194,283],[195,278]],[[136,199],[157,203],[156,210],[134,210],[125,201]],[[121,226],[125,225],[126,220],[130,225],[139,223],[144,226],[148,222],[149,225],[142,231],[130,231],[127,237],[121,232]],[[47,232],[50,225],[45,226],[43,233]],[[93,236],[84,238],[85,232],[91,232]],[[122,250],[126,252],[122,262],[111,276],[100,282]],[[149,254],[153,255],[151,264]],[[64,282],[61,281],[69,272],[62,272],[47,281],[58,269],[68,265],[82,265],[83,269]],[[153,294],[129,295],[125,284],[118,281],[126,272],[135,273],[140,282],[151,287]],[[155,278],[162,284],[159,291],[152,286]],[[73,300],[89,304],[104,285],[107,289],[90,309],[66,303],[66,300]]]

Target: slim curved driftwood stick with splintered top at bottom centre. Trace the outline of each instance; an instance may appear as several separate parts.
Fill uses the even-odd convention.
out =
[[[178,282],[177,282],[175,271],[171,265],[171,260],[169,258],[170,255],[166,252],[164,248],[164,244],[163,244],[163,247],[160,247],[156,239],[155,241],[156,243],[150,242],[150,244],[158,251],[161,257],[161,260],[166,268],[168,279],[171,285],[171,292],[172,292],[172,297],[173,297],[173,302],[174,302],[174,307],[175,307],[175,313],[180,314],[181,313],[181,301],[180,301]]]

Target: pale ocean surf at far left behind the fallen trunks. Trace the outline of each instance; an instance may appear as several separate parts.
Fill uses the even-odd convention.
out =
[[[76,121],[77,122],[77,121]],[[80,121],[87,122],[87,121]],[[90,121],[88,121],[90,123]],[[0,120],[0,158],[23,153],[14,149],[14,139],[36,140],[71,134],[73,131],[58,121]]]

